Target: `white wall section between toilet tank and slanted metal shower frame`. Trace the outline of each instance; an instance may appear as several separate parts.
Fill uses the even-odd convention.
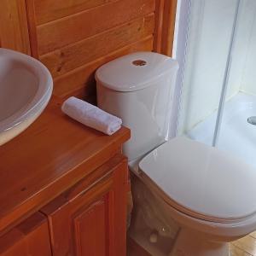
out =
[[[191,3],[179,133],[189,131],[218,108],[236,10],[234,0]],[[232,84],[228,96],[238,90]]]

